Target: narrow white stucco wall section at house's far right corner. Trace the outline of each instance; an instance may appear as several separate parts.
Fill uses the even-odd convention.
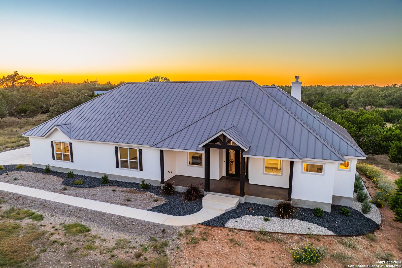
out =
[[[333,195],[353,197],[357,159],[345,159],[350,162],[349,170],[339,170],[339,164],[336,164]]]

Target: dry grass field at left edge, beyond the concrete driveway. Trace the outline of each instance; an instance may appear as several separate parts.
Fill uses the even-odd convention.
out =
[[[22,137],[21,133],[45,122],[45,120],[46,115],[38,115],[35,118],[8,117],[0,119],[0,151],[29,144],[29,138]]]

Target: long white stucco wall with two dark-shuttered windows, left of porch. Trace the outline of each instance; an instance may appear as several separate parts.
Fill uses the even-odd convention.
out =
[[[52,159],[50,141],[55,140],[72,143],[74,163]],[[160,181],[160,155],[157,149],[139,147],[142,148],[143,171],[137,171],[116,168],[115,146],[118,144],[73,141],[57,129],[46,138],[30,137],[29,141],[33,164]]]

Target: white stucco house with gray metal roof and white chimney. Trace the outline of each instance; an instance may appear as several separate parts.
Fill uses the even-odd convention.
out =
[[[202,183],[241,202],[350,205],[357,159],[343,128],[253,81],[125,83],[23,133],[32,162],[154,185]]]

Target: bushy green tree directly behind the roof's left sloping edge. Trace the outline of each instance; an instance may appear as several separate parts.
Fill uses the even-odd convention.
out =
[[[88,90],[67,90],[66,94],[60,94],[51,101],[51,108],[49,109],[49,114],[47,114],[48,119],[61,115],[72,108],[87,102],[91,99],[90,92]]]

